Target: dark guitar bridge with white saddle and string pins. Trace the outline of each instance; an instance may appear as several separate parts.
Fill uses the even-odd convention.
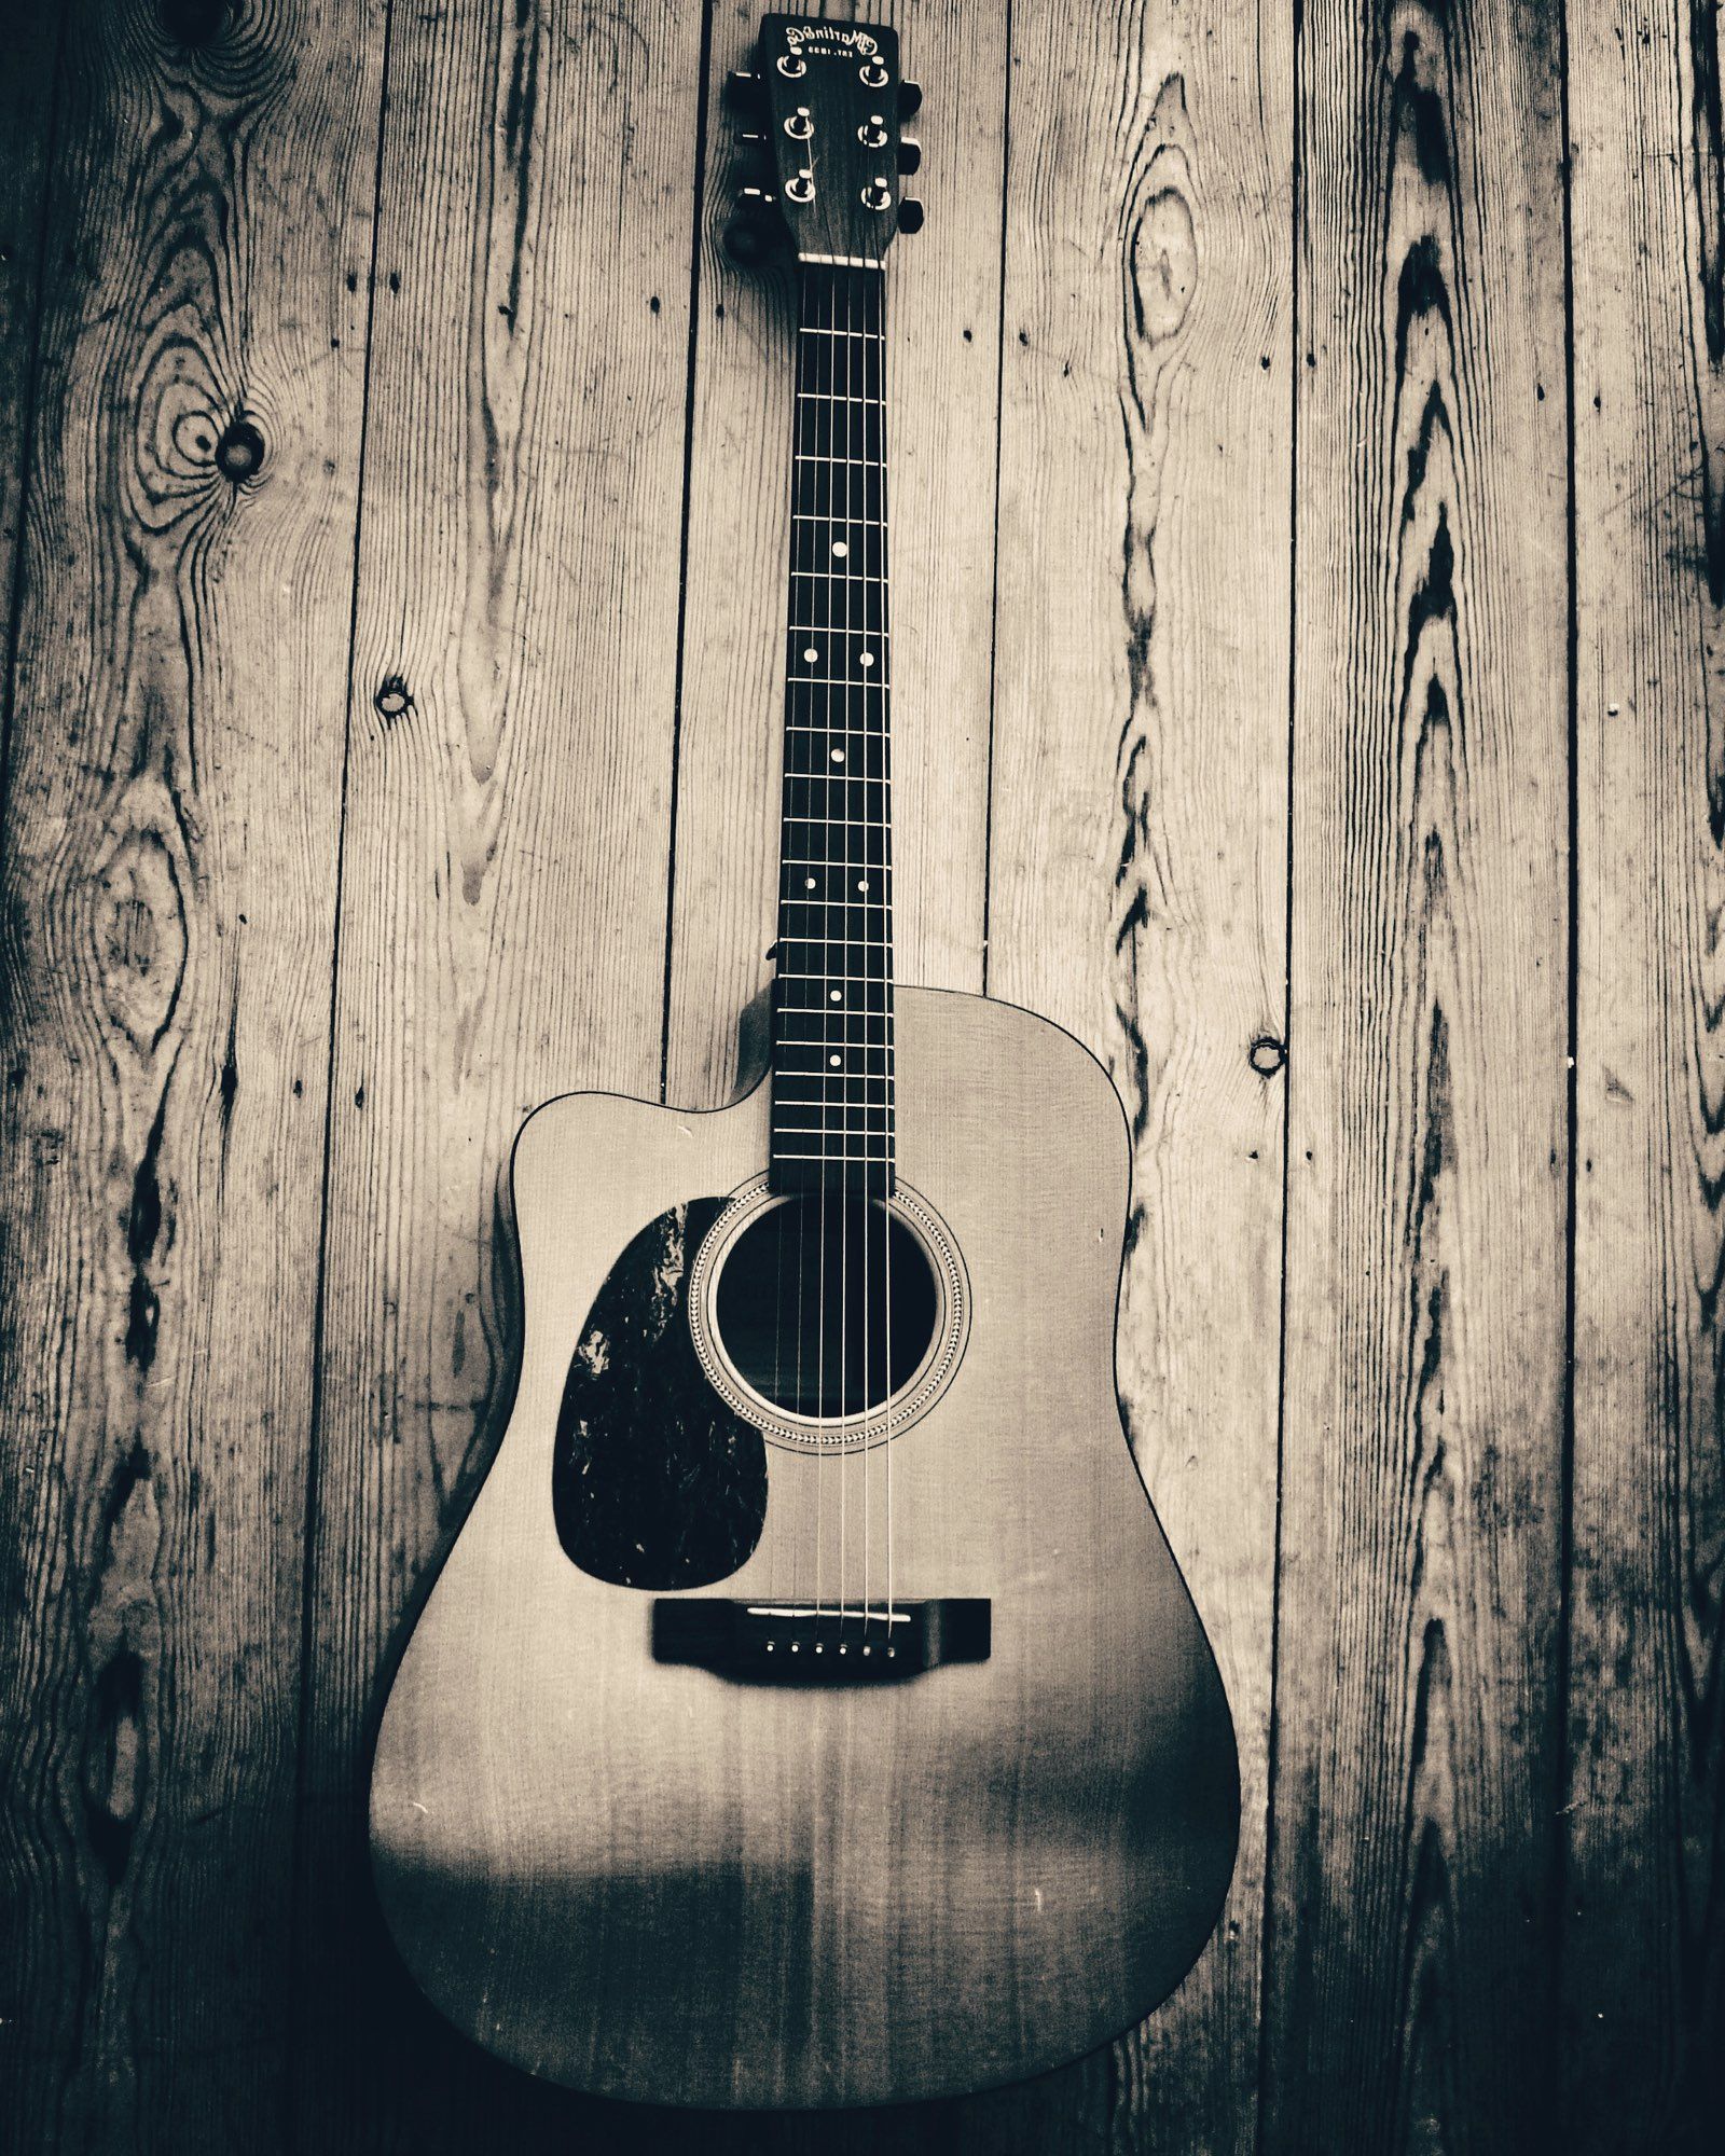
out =
[[[988,1595],[824,1608],[662,1595],[653,1660],[744,1684],[897,1684],[942,1662],[985,1662]]]

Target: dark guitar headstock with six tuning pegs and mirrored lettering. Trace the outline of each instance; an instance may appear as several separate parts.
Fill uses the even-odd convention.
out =
[[[923,224],[899,181],[921,151],[901,123],[923,93],[899,78],[899,32],[884,24],[763,15],[755,67],[731,75],[742,142],[759,153],[724,244],[737,261],[789,246],[802,263],[871,263]]]

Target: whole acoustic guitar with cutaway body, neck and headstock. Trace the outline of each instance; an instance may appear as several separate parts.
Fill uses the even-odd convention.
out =
[[[800,287],[770,1069],[548,1102],[513,1156],[496,1462],[382,1718],[371,1852],[423,1992],[578,2089],[862,2104],[1154,2007],[1233,1867],[1216,1662],[1126,1445],[1102,1065],[895,987],[888,28],[740,78]]]

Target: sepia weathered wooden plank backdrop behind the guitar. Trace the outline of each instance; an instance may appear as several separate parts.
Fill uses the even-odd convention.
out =
[[[1716,2145],[1714,0],[880,13],[901,975],[1126,1100],[1225,1921],[1110,2055],[845,2119],[410,1994],[364,1755],[509,1397],[498,1171],[716,1104],[768,972],[750,15],[6,0],[6,2147]]]

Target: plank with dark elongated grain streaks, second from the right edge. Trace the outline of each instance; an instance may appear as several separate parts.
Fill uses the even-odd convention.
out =
[[[1563,136],[1550,9],[1307,6],[1270,2147],[1555,2098]]]

